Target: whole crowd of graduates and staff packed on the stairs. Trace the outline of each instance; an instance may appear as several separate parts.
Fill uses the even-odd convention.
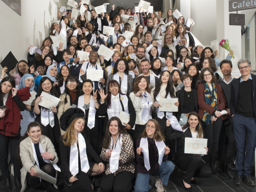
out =
[[[181,178],[186,191],[193,191],[195,177],[209,178],[225,169],[235,184],[255,186],[250,173],[256,76],[250,73],[250,61],[240,59],[241,76],[233,78],[233,51],[220,61],[210,47],[195,47],[192,25],[173,17],[171,9],[164,19],[161,11],[145,14],[142,8],[136,13],[120,7],[115,13],[112,5],[111,13],[98,15],[94,6],[80,2],[76,8],[81,6],[81,16],[59,12],[60,23],[50,28],[50,36],[67,36],[66,48],[63,43],[54,47],[47,37],[41,54],[29,51],[28,61],[19,61],[17,69],[2,70],[0,170],[5,190],[12,191],[9,151],[21,191],[34,191],[40,182],[48,191],[61,186],[93,191],[97,185],[103,192],[149,191],[153,175],[159,176],[155,186],[160,192],[175,165],[186,171]],[[123,14],[139,18],[128,47],[121,45],[123,33],[133,31]],[[114,27],[114,36],[105,34],[107,41],[101,38],[103,26]],[[114,51],[109,61],[98,54],[94,36]],[[89,59],[80,62],[78,50],[89,52]],[[100,81],[87,78],[88,69],[102,70]],[[58,105],[42,107],[42,94],[59,98]],[[163,98],[178,98],[177,111],[160,110]],[[186,137],[207,138],[202,149],[207,155],[185,153]],[[58,178],[57,184],[37,177],[39,169]]]

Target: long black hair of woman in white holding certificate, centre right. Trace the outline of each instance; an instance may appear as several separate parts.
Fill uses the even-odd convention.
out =
[[[175,89],[173,88],[173,77],[171,76],[171,72],[169,72],[168,70],[164,70],[162,72],[159,80],[156,83],[155,90],[153,91],[154,101],[156,101],[156,96],[160,92],[161,85],[162,85],[162,76],[163,76],[164,72],[168,72],[168,74],[169,74],[169,80],[167,81],[167,87],[165,89],[165,92],[166,92],[165,98],[167,98],[168,94],[170,94],[171,98],[176,98],[176,96],[175,96]]]

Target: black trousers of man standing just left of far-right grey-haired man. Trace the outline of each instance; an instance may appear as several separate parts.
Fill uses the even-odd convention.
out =
[[[235,135],[233,133],[232,118],[223,121],[219,138],[219,159],[221,164],[231,164],[235,160]],[[226,149],[226,136],[228,136],[228,147]]]

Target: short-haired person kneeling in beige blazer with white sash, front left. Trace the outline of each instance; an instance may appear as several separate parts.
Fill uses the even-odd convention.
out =
[[[58,165],[56,165],[58,156],[54,145],[47,136],[41,134],[40,124],[37,122],[29,123],[27,133],[21,140],[19,144],[19,156],[23,164],[21,169],[21,192],[25,191],[27,182],[29,188],[26,192],[34,191],[41,181],[48,191],[58,191],[50,182],[37,177],[36,166],[52,177],[55,176],[56,171],[60,171]]]

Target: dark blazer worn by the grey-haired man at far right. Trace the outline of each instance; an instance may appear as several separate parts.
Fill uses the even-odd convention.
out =
[[[256,116],[256,102],[255,102],[256,76],[251,74],[251,78],[252,78],[251,90],[252,90],[252,94],[253,94],[253,111],[254,111],[254,114]],[[238,79],[233,80],[231,82],[231,98],[230,98],[230,113],[231,113],[231,115],[235,114],[235,112],[237,111],[237,100],[238,100],[240,79],[241,78],[238,78]]]

